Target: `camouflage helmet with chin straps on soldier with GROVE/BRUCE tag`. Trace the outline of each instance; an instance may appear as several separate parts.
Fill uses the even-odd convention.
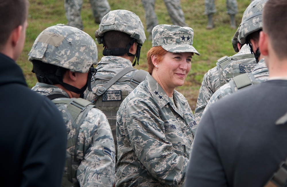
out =
[[[99,44],[103,44],[105,47],[105,41],[103,40],[104,33],[108,31],[119,31],[131,36],[131,42],[126,48],[104,48],[104,56],[122,56],[128,54],[128,56],[135,56],[135,62],[139,64],[139,55],[141,46],[146,40],[144,33],[144,25],[135,13],[128,10],[113,10],[108,12],[103,18],[99,25],[99,29],[95,32],[96,40]],[[129,49],[137,42],[137,51],[135,54],[131,54]],[[135,65],[133,63],[133,66]]]

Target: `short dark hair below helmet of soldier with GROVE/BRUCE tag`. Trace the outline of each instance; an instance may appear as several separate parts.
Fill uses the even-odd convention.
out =
[[[131,36],[124,32],[111,30],[104,33],[103,40],[106,48],[126,48],[127,45],[133,40]]]

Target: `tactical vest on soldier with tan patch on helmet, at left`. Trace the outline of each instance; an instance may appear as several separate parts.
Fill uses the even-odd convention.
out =
[[[79,129],[91,108],[91,102],[82,98],[67,98],[62,94],[47,96],[60,110],[67,129],[67,147],[62,187],[79,187],[77,169],[81,160],[77,159],[77,141]],[[58,98],[57,100],[55,100]]]

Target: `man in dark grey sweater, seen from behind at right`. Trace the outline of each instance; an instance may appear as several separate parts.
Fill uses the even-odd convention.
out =
[[[193,141],[189,186],[285,186],[286,9],[286,0],[268,0],[263,7],[259,48],[269,79],[219,100],[203,114]]]

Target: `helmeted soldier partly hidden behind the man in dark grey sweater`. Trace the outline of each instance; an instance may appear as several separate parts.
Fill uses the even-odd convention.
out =
[[[251,73],[234,77],[229,83],[214,92],[205,109],[209,108],[210,105],[221,98],[268,79],[269,71],[259,50],[259,32],[262,30],[262,9],[266,1],[267,0],[255,0],[247,7],[238,32],[238,41],[241,44],[248,44],[250,46],[251,52],[258,62],[257,65]]]

